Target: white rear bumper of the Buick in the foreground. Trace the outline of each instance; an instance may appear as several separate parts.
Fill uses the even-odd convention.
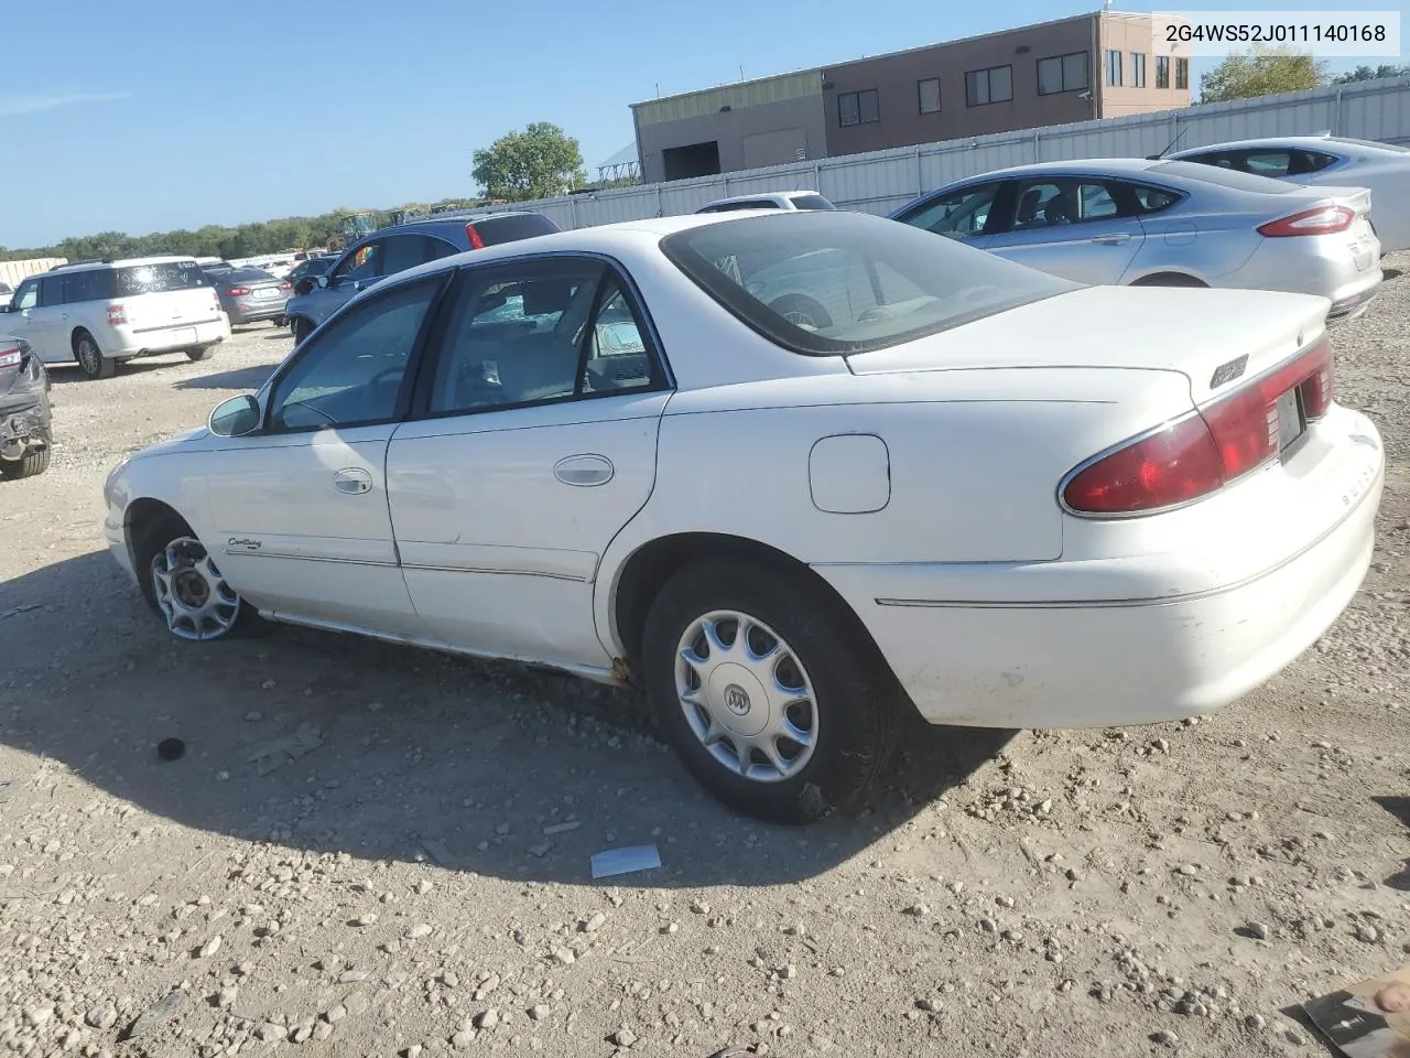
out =
[[[1342,412],[1348,433],[1323,495],[1335,513],[1324,506],[1328,521],[1296,546],[1246,549],[1259,557],[1244,570],[1211,578],[1207,563],[1162,556],[816,568],[931,722],[1090,728],[1203,715],[1292,663],[1365,577],[1385,456],[1375,426]]]

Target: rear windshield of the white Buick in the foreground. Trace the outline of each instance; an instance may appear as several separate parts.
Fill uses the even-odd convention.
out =
[[[661,251],[736,319],[784,348],[898,346],[1077,284],[863,213],[774,213],[701,224]]]

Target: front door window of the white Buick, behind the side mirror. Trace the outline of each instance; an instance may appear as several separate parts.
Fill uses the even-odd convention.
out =
[[[386,291],[323,329],[275,384],[269,427],[329,429],[395,419],[406,368],[443,279],[431,275]]]

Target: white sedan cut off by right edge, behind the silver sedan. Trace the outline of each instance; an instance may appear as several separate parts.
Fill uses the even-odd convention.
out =
[[[1280,135],[1211,144],[1166,155],[1290,183],[1371,190],[1371,223],[1383,253],[1410,250],[1410,147],[1345,135]]]

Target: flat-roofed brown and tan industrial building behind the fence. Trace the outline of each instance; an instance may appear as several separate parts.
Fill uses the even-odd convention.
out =
[[[1190,61],[1149,14],[1018,30],[632,104],[642,179],[766,165],[1190,104]]]

